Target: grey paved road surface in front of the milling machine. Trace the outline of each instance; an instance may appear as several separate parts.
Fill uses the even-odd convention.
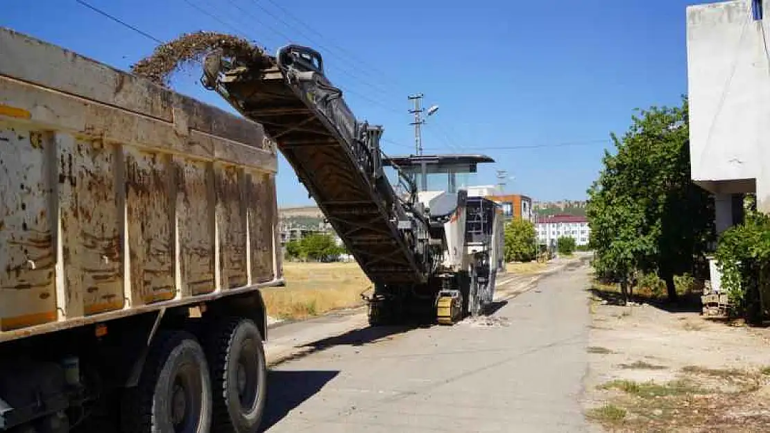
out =
[[[587,268],[454,327],[362,328],[269,375],[266,431],[587,431]]]

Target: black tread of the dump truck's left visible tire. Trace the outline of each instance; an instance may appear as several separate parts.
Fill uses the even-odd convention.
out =
[[[123,398],[124,416],[121,420],[123,431],[126,433],[154,431],[152,400],[157,379],[163,369],[161,360],[167,358],[174,348],[188,339],[197,341],[194,335],[186,331],[159,331],[156,335],[147,354],[139,385],[127,390]],[[147,368],[152,366],[155,368]]]

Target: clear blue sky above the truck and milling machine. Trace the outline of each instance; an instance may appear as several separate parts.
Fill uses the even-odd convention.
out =
[[[272,51],[288,42],[324,56],[327,75],[360,119],[384,125],[385,152],[413,151],[407,95],[440,105],[426,153],[484,153],[477,185],[507,170],[507,192],[584,199],[610,132],[632,110],[687,91],[683,0],[85,0],[168,40],[237,32]],[[0,25],[128,69],[156,45],[75,0],[3,0]],[[209,16],[199,9],[208,12]],[[288,11],[288,13],[287,13]],[[180,72],[175,88],[229,109]],[[512,148],[516,146],[537,146]],[[286,162],[280,205],[310,203]]]

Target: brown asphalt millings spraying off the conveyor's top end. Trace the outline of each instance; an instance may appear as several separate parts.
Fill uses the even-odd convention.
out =
[[[142,58],[131,71],[164,87],[169,87],[171,75],[189,65],[200,64],[209,52],[222,49],[223,55],[259,62],[266,53],[246,39],[216,32],[186,33],[170,42],[158,45],[152,55]]]

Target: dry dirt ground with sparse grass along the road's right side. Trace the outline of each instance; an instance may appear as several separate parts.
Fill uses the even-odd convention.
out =
[[[770,330],[600,291],[589,308],[584,408],[605,431],[770,431]]]

